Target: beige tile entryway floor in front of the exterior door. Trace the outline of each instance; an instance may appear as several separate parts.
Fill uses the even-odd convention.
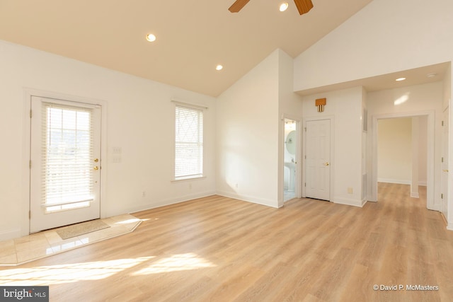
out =
[[[110,228],[63,240],[57,229],[0,242],[0,266],[21,265],[134,231],[142,222],[130,214],[101,219]]]

